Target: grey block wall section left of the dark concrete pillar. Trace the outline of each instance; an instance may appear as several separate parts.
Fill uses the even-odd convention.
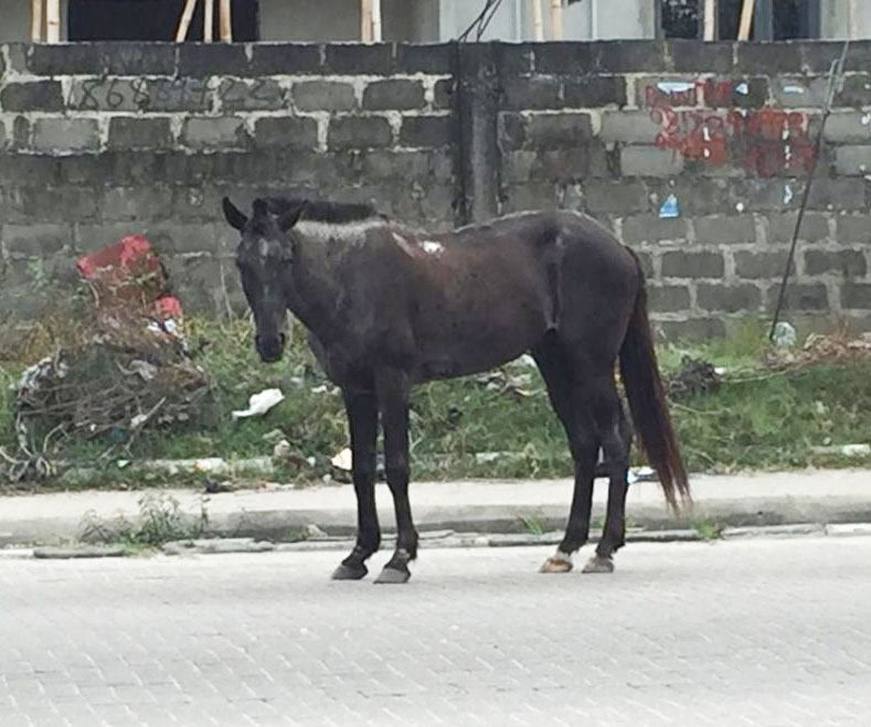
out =
[[[129,233],[189,308],[243,307],[221,197],[453,222],[449,46],[0,45],[0,312]]]

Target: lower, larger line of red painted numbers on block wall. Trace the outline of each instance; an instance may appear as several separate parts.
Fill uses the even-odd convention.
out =
[[[708,164],[734,163],[757,177],[810,170],[814,145],[809,118],[774,108],[712,111],[656,106],[656,146]]]

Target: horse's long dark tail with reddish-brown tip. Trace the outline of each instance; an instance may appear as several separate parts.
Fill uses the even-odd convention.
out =
[[[636,264],[638,259],[636,258]],[[678,495],[689,504],[690,483],[680,456],[680,449],[668,414],[666,393],[659,377],[659,367],[647,318],[647,291],[641,276],[629,328],[620,346],[620,377],[629,399],[633,424],[669,505],[679,510]]]

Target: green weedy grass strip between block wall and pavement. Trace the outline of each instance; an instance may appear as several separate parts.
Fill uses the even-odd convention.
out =
[[[221,324],[193,320],[188,324],[188,338],[194,346],[204,343],[199,362],[214,379],[219,416],[187,428],[146,432],[132,445],[134,457],[262,457],[272,452],[268,435],[277,429],[290,442],[297,462],[282,471],[283,479],[311,481],[329,471],[329,459],[348,443],[344,411],[338,389],[323,379],[308,352],[301,327],[294,328],[288,355],[276,366],[259,363],[251,343],[251,325],[244,320]],[[871,441],[869,362],[820,363],[775,373],[758,364],[763,342],[764,333],[747,327],[723,341],[660,351],[663,368],[677,366],[689,354],[735,372],[719,391],[672,406],[689,469],[732,472],[871,463],[817,455],[811,449]],[[42,353],[31,351],[28,360]],[[7,362],[4,384],[13,381],[20,370],[21,365]],[[466,378],[415,389],[411,414],[415,478],[571,474],[564,435],[538,372],[522,365],[512,365],[508,371],[509,378],[522,382],[521,386],[493,387]],[[282,388],[286,398],[266,416],[232,419],[230,413],[245,408],[251,394],[273,386]],[[0,443],[7,447],[14,441],[8,396],[8,386],[3,385]],[[89,464],[105,448],[105,441],[75,442],[66,453],[72,460]],[[637,451],[635,456],[640,461]],[[308,458],[314,458],[315,467],[304,463]],[[97,482],[117,484],[126,478],[129,475],[123,470],[110,468]]]

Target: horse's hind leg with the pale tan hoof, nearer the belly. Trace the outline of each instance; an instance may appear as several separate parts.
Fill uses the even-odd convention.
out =
[[[574,460],[574,494],[565,535],[556,553],[541,567],[542,573],[566,573],[572,569],[572,554],[589,536],[589,511],[593,504],[593,479],[598,457],[598,437],[591,416],[584,388],[569,365],[565,352],[553,341],[533,351],[539,371],[548,385],[548,395],[569,438]]]

